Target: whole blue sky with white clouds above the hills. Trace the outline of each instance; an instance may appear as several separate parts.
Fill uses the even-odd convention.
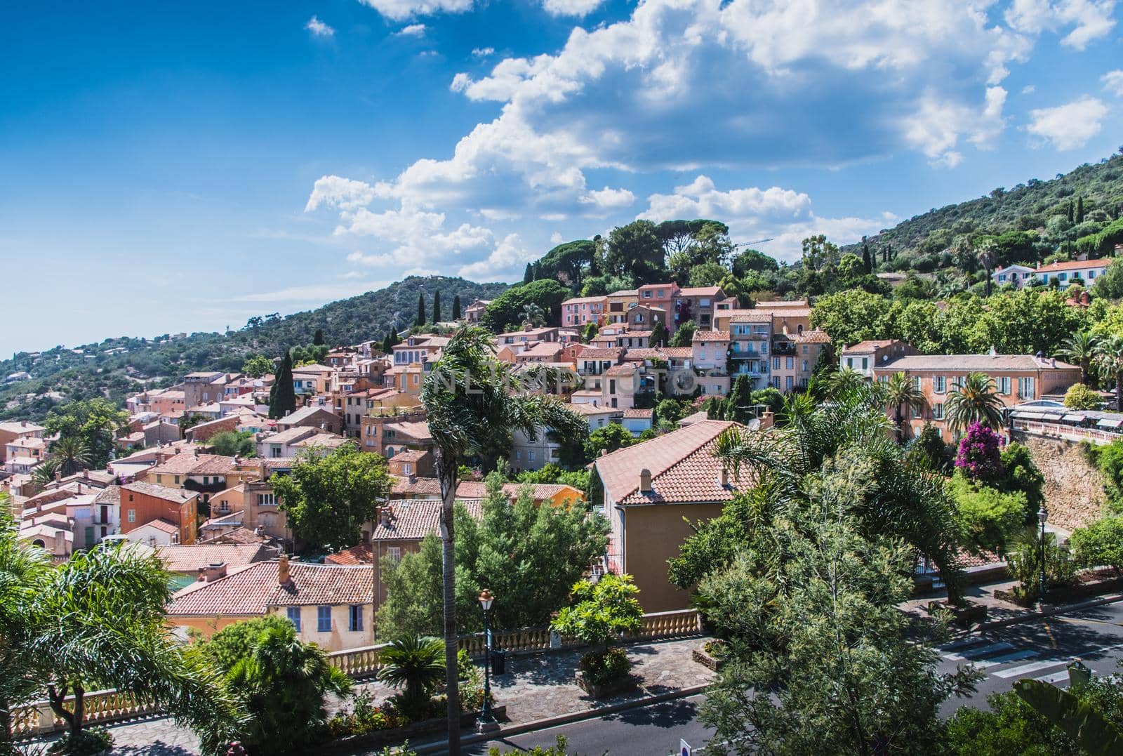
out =
[[[22,3],[0,354],[521,276],[637,217],[792,258],[1123,143],[1114,0]]]

